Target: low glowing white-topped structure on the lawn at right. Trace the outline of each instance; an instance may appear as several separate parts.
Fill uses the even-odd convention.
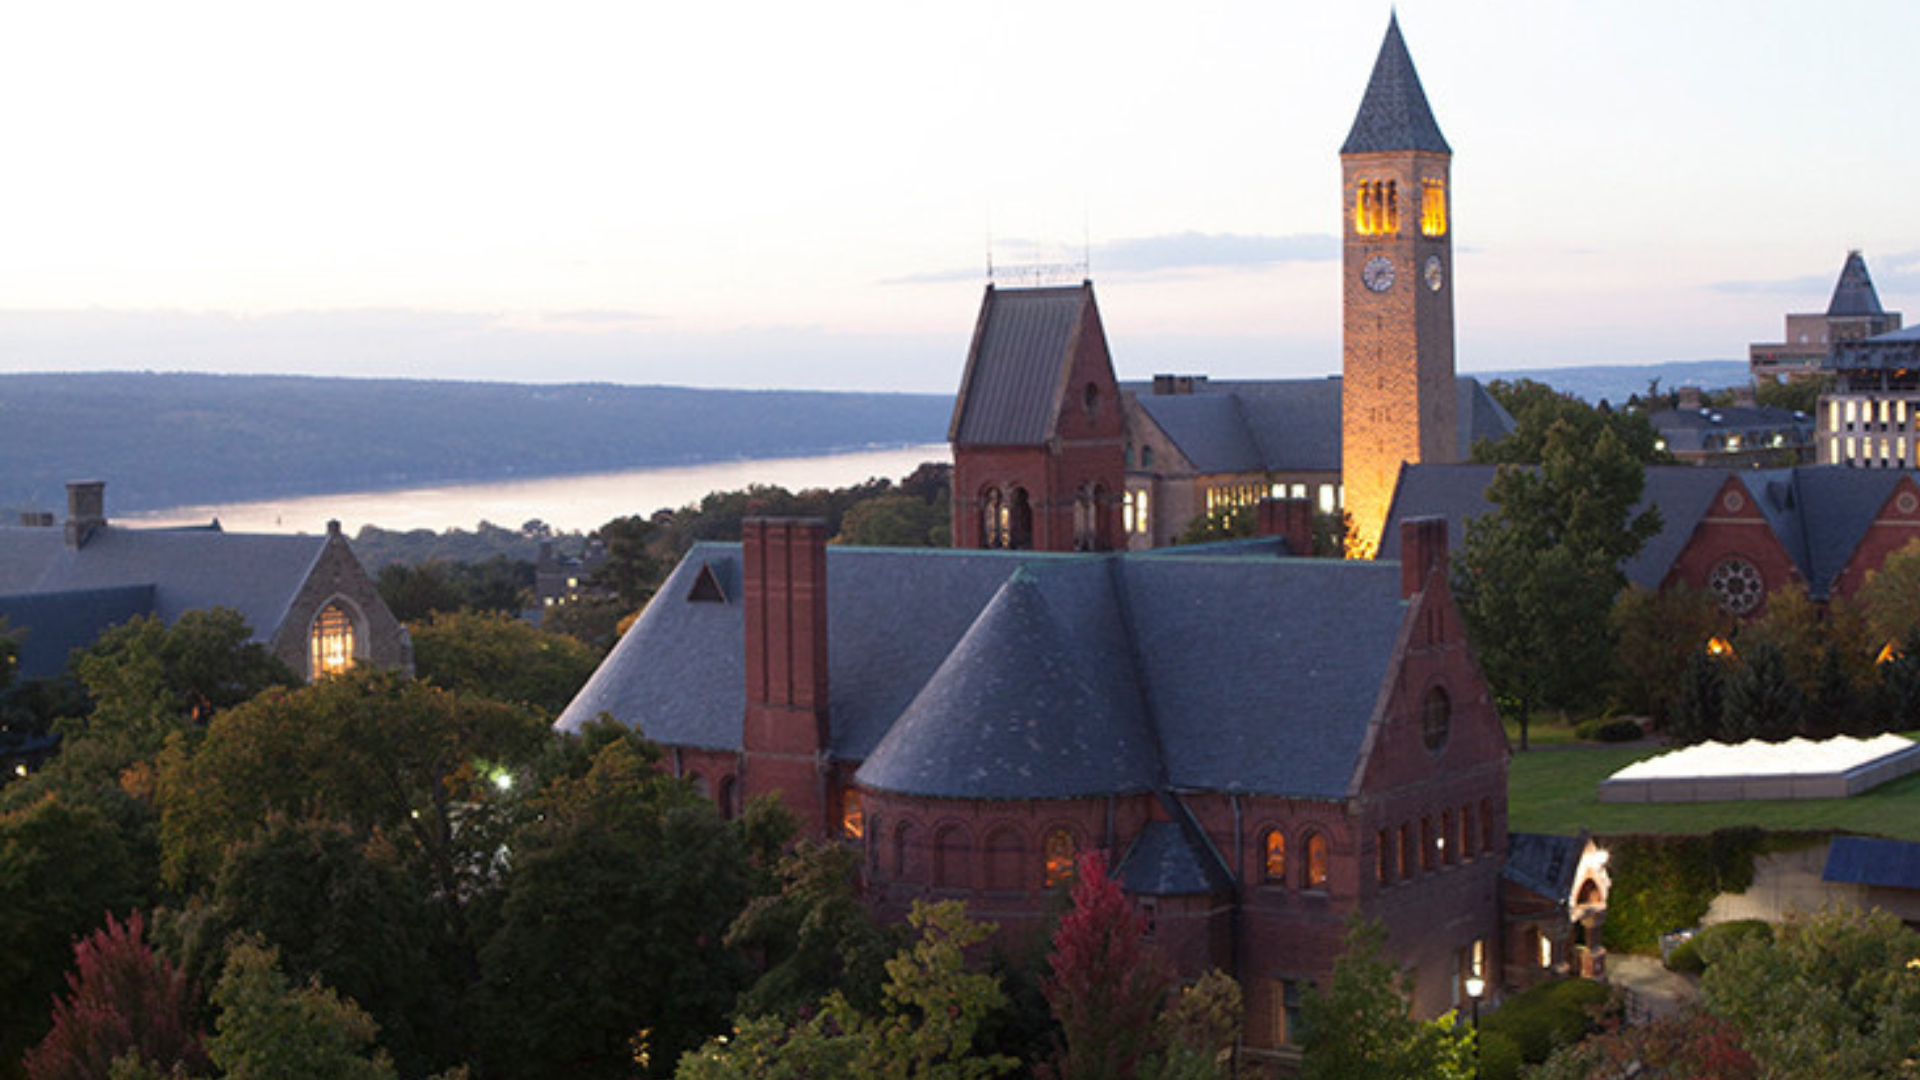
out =
[[[1897,734],[1703,742],[1607,776],[1599,782],[1599,801],[1841,799],[1914,771],[1920,771],[1920,744]]]

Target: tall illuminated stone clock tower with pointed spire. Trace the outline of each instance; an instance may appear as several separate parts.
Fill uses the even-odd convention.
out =
[[[1340,146],[1340,482],[1354,557],[1379,548],[1402,463],[1459,459],[1452,160],[1390,17]]]

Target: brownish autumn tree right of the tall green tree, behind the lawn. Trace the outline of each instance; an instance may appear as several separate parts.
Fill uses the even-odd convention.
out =
[[[1686,584],[1622,590],[1607,615],[1619,701],[1670,726],[1692,657],[1709,638],[1728,632],[1726,621],[1711,592]]]

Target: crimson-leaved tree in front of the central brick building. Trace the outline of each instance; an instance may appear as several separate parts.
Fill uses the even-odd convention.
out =
[[[1133,1076],[1158,1049],[1154,1019],[1173,984],[1146,922],[1106,876],[1106,857],[1079,859],[1073,911],[1054,932],[1052,976],[1043,990],[1060,1022],[1048,1074],[1058,1080]]]

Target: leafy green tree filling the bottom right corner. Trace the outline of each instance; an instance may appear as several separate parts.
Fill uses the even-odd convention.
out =
[[[1707,955],[1701,999],[1732,1022],[1763,1076],[1907,1076],[1920,1047],[1914,934],[1885,911],[1789,915],[1772,940]]]

